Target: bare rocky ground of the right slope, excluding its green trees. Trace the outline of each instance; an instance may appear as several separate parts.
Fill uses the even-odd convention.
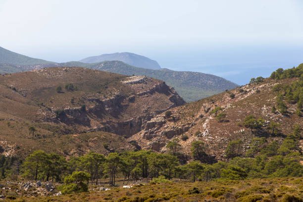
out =
[[[170,110],[172,114],[169,117],[165,115],[165,112],[157,115],[144,124],[143,130],[130,137],[129,141],[138,142],[143,149],[167,152],[168,141],[177,138],[181,145],[179,152],[190,159],[192,142],[200,140],[207,144],[210,159],[212,157],[215,160],[225,159],[224,151],[231,140],[241,139],[245,148],[248,148],[252,138],[262,136],[239,125],[248,115],[265,119],[263,129],[270,121],[280,123],[283,134],[290,133],[294,124],[303,126],[302,118],[294,113],[296,104],[288,103],[287,115],[271,112],[276,97],[272,91],[273,86],[278,83],[287,84],[293,80],[295,79],[278,81],[267,79],[258,84],[245,85],[201,101],[172,108]],[[230,96],[232,94],[234,94],[233,98]],[[220,112],[226,114],[221,122],[216,120],[215,114],[210,113],[217,106],[222,107]],[[182,140],[184,135],[188,136],[185,141]],[[265,135],[265,137],[269,142],[274,139],[281,142],[283,139],[281,136]]]

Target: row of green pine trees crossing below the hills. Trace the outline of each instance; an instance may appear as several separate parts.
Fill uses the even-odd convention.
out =
[[[219,161],[213,164],[202,163],[207,155],[207,145],[202,141],[192,143],[193,161],[181,164],[178,158],[180,144],[173,139],[167,144],[168,153],[152,151],[112,152],[107,156],[97,152],[88,152],[83,156],[71,156],[68,160],[58,153],[42,150],[31,153],[19,163],[16,157],[0,158],[2,178],[21,174],[23,178],[41,181],[63,182],[73,172],[83,171],[89,175],[92,184],[107,179],[114,186],[116,177],[124,183],[143,178],[209,181],[213,179],[247,179],[258,177],[302,176],[302,151],[299,145],[302,129],[294,127],[282,144],[277,141],[268,143],[264,137],[254,138],[248,149],[244,149],[242,140],[231,141],[225,151],[229,162]],[[13,168],[16,164],[18,169]]]

